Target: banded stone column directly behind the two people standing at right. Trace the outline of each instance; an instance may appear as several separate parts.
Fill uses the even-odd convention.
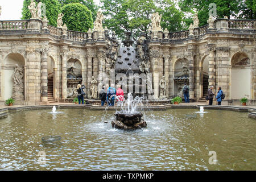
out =
[[[215,88],[215,77],[214,77],[214,52],[216,47],[214,44],[207,45],[207,51],[209,53],[209,86],[213,85]]]

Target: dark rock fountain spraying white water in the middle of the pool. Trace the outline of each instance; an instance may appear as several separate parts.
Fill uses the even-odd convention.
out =
[[[133,99],[133,96],[129,93],[127,101],[120,102],[121,111],[115,112],[115,121],[112,121],[112,127],[125,130],[147,127],[146,121],[142,119],[143,114],[136,111],[139,102],[141,102],[141,98]]]

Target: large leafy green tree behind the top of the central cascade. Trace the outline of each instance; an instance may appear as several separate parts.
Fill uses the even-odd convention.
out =
[[[123,38],[124,31],[133,32],[135,39],[143,32],[148,36],[152,13],[162,14],[162,28],[182,29],[183,13],[171,0],[101,0],[104,25]],[[158,6],[157,6],[158,5]],[[161,5],[161,6],[159,6]]]

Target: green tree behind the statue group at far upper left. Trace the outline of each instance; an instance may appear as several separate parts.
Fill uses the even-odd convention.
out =
[[[38,1],[39,2],[39,1]],[[38,4],[36,2],[36,5]],[[58,14],[60,13],[61,5],[57,0],[40,0],[40,2],[46,5],[46,16],[49,20],[50,25],[57,26],[57,18]],[[28,10],[28,5],[30,5],[31,0],[24,0],[23,1],[23,8],[22,8],[22,19],[30,19],[31,13]]]

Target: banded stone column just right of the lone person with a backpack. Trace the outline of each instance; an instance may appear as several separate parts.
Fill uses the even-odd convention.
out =
[[[195,98],[195,49],[188,49],[188,64],[189,64],[189,98]]]

